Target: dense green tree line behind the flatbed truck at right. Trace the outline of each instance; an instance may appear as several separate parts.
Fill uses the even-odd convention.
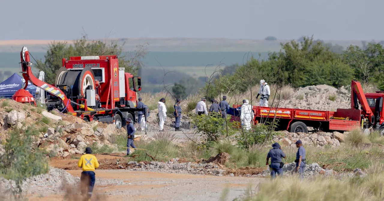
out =
[[[313,37],[281,43],[281,51],[270,52],[268,59],[251,56],[235,72],[216,76],[205,89],[209,97],[220,94],[242,93],[259,83],[290,84],[292,87],[326,84],[347,86],[352,79],[363,83],[376,83],[384,89],[384,46],[369,43],[364,47],[332,46]],[[259,54],[260,57],[260,54]],[[220,72],[219,72],[220,73]]]

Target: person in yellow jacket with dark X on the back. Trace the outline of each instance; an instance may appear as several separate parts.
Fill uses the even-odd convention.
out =
[[[99,162],[96,156],[92,155],[91,147],[85,148],[85,154],[79,159],[78,166],[83,168],[81,172],[81,194],[88,194],[84,196],[84,200],[89,200],[92,196],[93,187],[95,185],[95,172],[94,170],[99,167]],[[87,189],[88,188],[88,189]]]

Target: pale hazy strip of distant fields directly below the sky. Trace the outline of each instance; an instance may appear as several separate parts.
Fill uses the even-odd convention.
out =
[[[299,37],[298,37],[299,38]],[[315,39],[316,36],[314,36]],[[103,39],[102,39],[103,40]],[[61,40],[56,40],[61,41]],[[265,41],[264,39],[224,39],[224,38],[120,38],[109,39],[107,42],[116,41],[124,45],[125,51],[136,49],[137,45],[149,44],[149,50],[155,52],[268,52],[280,51],[280,43],[288,39]],[[0,41],[0,52],[20,52],[22,46],[27,46],[33,52],[45,52],[49,40],[12,40]],[[68,41],[71,43],[72,41]],[[346,47],[351,44],[361,46],[361,40],[331,42]]]

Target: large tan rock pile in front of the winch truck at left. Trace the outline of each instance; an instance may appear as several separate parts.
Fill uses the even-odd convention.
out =
[[[81,154],[89,145],[98,148],[106,145],[115,149],[116,145],[110,143],[111,136],[123,132],[123,129],[117,130],[114,124],[85,122],[57,111],[53,112],[55,114],[45,110],[39,113],[33,106],[13,100],[0,101],[7,101],[3,105],[9,105],[0,107],[0,140],[5,139],[8,132],[15,128],[21,129],[22,132],[34,129],[33,145],[45,147],[50,157]],[[49,125],[44,122],[49,122]]]

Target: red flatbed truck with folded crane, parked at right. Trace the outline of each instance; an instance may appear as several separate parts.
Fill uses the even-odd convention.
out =
[[[307,127],[322,131],[351,131],[355,128],[372,128],[384,134],[384,92],[364,94],[360,82],[351,83],[351,109],[323,111],[298,108],[274,108],[253,106],[253,123],[257,124],[276,119],[276,130],[308,132]],[[239,108],[241,105],[233,105]],[[359,109],[359,106],[360,109]],[[241,112],[241,111],[240,111]],[[231,121],[240,121],[233,116]]]

